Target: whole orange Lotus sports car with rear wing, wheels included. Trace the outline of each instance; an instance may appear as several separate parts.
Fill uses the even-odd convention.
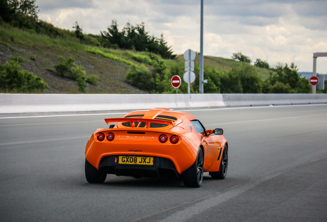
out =
[[[200,187],[203,173],[225,179],[228,143],[221,128],[206,130],[188,113],[166,108],[134,111],[104,119],[85,149],[85,177],[90,183],[117,176],[180,177],[186,187]]]

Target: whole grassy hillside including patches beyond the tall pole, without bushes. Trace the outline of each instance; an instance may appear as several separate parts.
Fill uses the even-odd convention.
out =
[[[135,94],[147,93],[131,86],[126,81],[126,75],[131,67],[139,67],[140,61],[153,68],[149,58],[143,52],[107,49],[81,44],[77,38],[50,38],[35,31],[23,31],[12,27],[0,27],[0,63],[5,64],[10,57],[22,57],[21,67],[41,77],[49,89],[42,93],[80,93],[77,82],[63,78],[54,71],[57,58],[69,56],[75,58],[75,64],[86,70],[86,75],[97,75],[98,85],[87,84],[86,93],[90,94]],[[142,60],[144,59],[144,61]],[[168,67],[173,63],[184,64],[183,55],[178,55],[176,61],[165,60]],[[199,64],[199,57],[195,59]],[[205,56],[205,66],[222,71],[229,71],[240,64],[231,59]],[[256,68],[262,79],[269,76],[269,70]],[[2,91],[2,93],[7,93]]]

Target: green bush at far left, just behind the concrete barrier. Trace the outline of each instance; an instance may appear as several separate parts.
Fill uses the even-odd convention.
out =
[[[49,88],[40,77],[24,69],[21,70],[21,65],[15,61],[8,61],[5,65],[0,64],[0,87],[23,92]]]

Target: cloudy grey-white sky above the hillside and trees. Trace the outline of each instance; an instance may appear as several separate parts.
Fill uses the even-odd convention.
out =
[[[200,0],[37,0],[39,18],[72,30],[99,34],[116,19],[123,26],[145,23],[146,31],[162,32],[174,53],[199,51]],[[326,0],[204,0],[204,54],[231,58],[242,52],[270,66],[294,62],[312,71],[313,53],[327,52]],[[327,73],[327,57],[317,72]]]

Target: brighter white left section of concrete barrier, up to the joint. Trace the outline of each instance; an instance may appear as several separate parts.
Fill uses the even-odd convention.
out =
[[[222,94],[0,94],[0,114],[225,106]]]

